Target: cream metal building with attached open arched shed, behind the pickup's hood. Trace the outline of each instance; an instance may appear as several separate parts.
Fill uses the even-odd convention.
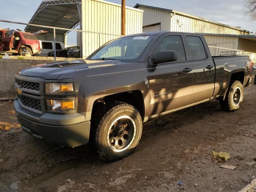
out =
[[[126,34],[142,32],[143,10],[126,6]],[[29,24],[74,29],[82,32],[79,44],[86,58],[94,50],[113,38],[121,36],[121,5],[103,0],[44,0]],[[44,28],[26,26],[26,32]],[[70,30],[56,30],[56,41],[66,42]],[[82,38],[82,41],[80,39]],[[40,40],[53,40],[53,31],[38,36]]]

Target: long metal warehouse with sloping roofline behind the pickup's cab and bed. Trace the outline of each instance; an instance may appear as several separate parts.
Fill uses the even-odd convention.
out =
[[[210,47],[212,55],[244,51],[256,62],[256,36],[247,30],[232,27],[198,16],[175,10],[136,4],[134,8],[144,11],[143,32],[173,31],[201,33]],[[220,47],[220,48],[219,48]],[[227,49],[223,49],[227,48]],[[239,52],[241,53],[241,52]]]

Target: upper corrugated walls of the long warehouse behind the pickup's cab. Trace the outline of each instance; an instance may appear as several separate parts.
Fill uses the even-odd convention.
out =
[[[214,34],[239,34],[247,35],[248,32],[236,28],[220,25],[217,22],[181,13],[170,12],[145,6],[138,7],[144,10],[143,26],[161,23],[161,31],[190,32],[190,33],[214,33]]]

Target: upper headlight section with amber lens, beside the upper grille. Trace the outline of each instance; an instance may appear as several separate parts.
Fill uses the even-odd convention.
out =
[[[67,93],[73,92],[73,83],[46,83],[45,92],[46,93]]]

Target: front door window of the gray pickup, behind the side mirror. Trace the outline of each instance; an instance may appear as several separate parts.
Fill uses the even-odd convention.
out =
[[[178,56],[177,61],[186,61],[186,54],[181,36],[172,35],[163,38],[154,50],[153,55],[159,51],[175,51]]]

